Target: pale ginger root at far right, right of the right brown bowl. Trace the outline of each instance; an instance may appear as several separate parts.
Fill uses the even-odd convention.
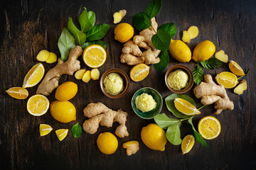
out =
[[[233,110],[234,103],[228,98],[224,86],[222,84],[215,84],[210,74],[206,74],[203,78],[205,82],[201,82],[201,84],[193,89],[196,98],[201,98],[203,105],[215,103],[216,115],[226,109]]]

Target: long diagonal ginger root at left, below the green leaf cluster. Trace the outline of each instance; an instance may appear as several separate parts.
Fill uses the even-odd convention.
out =
[[[46,77],[38,86],[36,94],[43,94],[46,96],[50,95],[50,93],[58,87],[58,79],[60,75],[73,75],[75,71],[80,69],[80,61],[78,61],[78,57],[80,55],[82,55],[82,48],[80,46],[75,46],[70,50],[70,54],[66,62],[63,62],[59,58],[58,64],[52,69],[49,69]]]

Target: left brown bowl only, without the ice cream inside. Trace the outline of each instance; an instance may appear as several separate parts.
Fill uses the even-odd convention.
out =
[[[118,74],[124,81],[124,89],[122,90],[122,92],[120,94],[112,95],[112,94],[107,93],[107,91],[105,90],[103,81],[107,77],[107,75],[110,73]],[[116,68],[109,69],[104,74],[102,74],[102,77],[100,78],[100,88],[102,89],[103,94],[105,94],[109,98],[120,98],[120,97],[124,96],[124,94],[126,94],[129,89],[129,77],[126,74],[126,72],[124,72],[122,69],[116,69]]]

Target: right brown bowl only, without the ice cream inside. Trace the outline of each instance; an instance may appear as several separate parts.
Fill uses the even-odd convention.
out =
[[[167,83],[167,78],[168,78],[169,74],[170,74],[171,72],[174,72],[176,69],[181,69],[183,72],[186,72],[186,74],[188,74],[188,85],[187,85],[185,88],[181,89],[181,90],[172,89],[172,88],[168,85],[168,83]],[[168,87],[168,89],[170,89],[170,91],[172,91],[172,92],[174,92],[174,93],[176,93],[176,94],[185,94],[185,93],[188,92],[188,91],[192,88],[192,86],[193,86],[193,74],[192,74],[191,70],[188,69],[188,67],[186,67],[186,66],[184,66],[184,65],[182,65],[182,64],[175,65],[175,66],[171,67],[170,69],[168,69],[167,72],[166,72],[166,75],[165,75],[165,78],[164,78],[164,79],[165,79],[166,86]]]

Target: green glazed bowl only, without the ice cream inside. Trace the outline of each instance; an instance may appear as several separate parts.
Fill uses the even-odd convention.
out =
[[[156,108],[154,108],[152,111],[142,112],[142,111],[139,111],[139,109],[137,109],[136,104],[135,104],[135,99],[137,98],[137,96],[139,96],[143,93],[150,94],[156,101]],[[161,97],[161,94],[159,94],[158,91],[156,91],[155,89],[152,89],[150,87],[144,87],[142,89],[139,89],[132,96],[132,109],[141,118],[144,118],[144,119],[154,118],[156,115],[158,115],[161,112],[162,106],[163,106],[163,99]]]

